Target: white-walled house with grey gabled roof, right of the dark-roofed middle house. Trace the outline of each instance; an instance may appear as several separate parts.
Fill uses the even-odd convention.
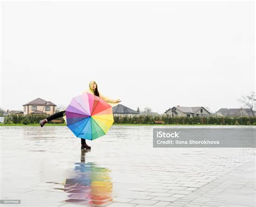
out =
[[[207,111],[203,106],[174,106],[164,112],[166,115],[174,116],[183,116],[183,117],[206,117],[211,113]]]

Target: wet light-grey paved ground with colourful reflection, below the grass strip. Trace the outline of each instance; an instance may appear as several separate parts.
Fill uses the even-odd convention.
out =
[[[21,199],[6,206],[255,206],[254,148],[152,148],[152,128],[112,126],[85,151],[65,126],[1,127],[1,199]]]

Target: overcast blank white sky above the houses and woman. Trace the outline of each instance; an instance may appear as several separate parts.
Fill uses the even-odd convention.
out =
[[[1,107],[67,106],[90,80],[136,110],[239,108],[255,90],[251,2],[2,2]]]

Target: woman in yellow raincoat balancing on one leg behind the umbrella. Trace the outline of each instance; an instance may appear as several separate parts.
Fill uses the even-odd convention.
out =
[[[110,99],[110,98],[108,98],[108,97],[106,97],[106,96],[103,96],[103,95],[99,92],[99,90],[98,90],[98,85],[97,85],[97,83],[96,83],[95,81],[91,81],[91,82],[89,83],[89,89],[88,89],[87,91],[84,91],[83,94],[84,94],[85,92],[89,92],[90,94],[93,94],[93,95],[95,95],[95,96],[98,96],[98,97],[104,99],[104,101],[107,102],[107,103],[117,104],[117,103],[121,102],[120,99],[115,99],[115,100],[114,100],[114,99]],[[53,115],[47,117],[46,119],[41,120],[41,121],[39,122],[39,124],[41,125],[41,127],[43,127],[47,122],[50,122],[50,121],[53,120],[53,119],[57,119],[57,118],[64,117],[64,116],[65,116],[65,110],[64,110],[64,111],[60,111],[60,112],[58,112],[58,113],[55,113],[55,114],[53,114]],[[82,139],[82,138],[81,138],[81,149],[84,149],[84,148],[86,148],[86,149],[91,149],[91,147],[86,144],[85,139]]]

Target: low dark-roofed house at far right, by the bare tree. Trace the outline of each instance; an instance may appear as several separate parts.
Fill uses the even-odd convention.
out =
[[[240,117],[240,116],[253,116],[251,109],[227,109],[221,108],[216,112],[217,116]],[[255,115],[255,111],[254,111]]]

